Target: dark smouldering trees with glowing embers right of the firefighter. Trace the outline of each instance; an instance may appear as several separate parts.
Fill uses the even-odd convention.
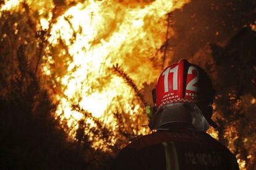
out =
[[[256,33],[243,28],[222,46],[210,44],[195,54],[216,88],[211,134],[237,155],[241,169],[255,169]]]

